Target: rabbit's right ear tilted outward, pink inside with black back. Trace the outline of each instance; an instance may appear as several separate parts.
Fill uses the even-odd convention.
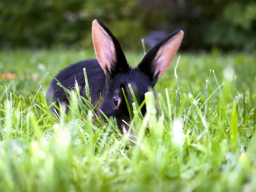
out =
[[[158,77],[168,69],[183,38],[183,31],[177,30],[157,43],[143,58],[137,69],[148,75],[152,86]]]

